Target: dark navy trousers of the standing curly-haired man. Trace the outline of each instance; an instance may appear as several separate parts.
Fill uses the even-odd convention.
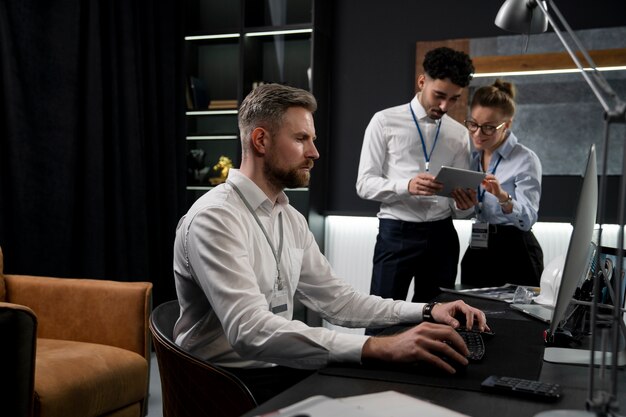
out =
[[[380,219],[370,293],[405,300],[415,278],[413,302],[427,302],[452,288],[459,262],[452,218],[413,223]]]

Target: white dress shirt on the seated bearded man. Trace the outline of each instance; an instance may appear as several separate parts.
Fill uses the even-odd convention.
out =
[[[176,230],[178,345],[222,366],[319,368],[335,361],[360,362],[367,336],[292,320],[294,298],[346,327],[421,321],[423,304],[361,294],[337,278],[305,218],[284,193],[274,205],[239,170],[231,169],[228,179],[248,200],[276,248],[282,213],[280,270],[287,308],[270,311],[277,274],[270,245],[233,186],[219,185],[195,202]]]

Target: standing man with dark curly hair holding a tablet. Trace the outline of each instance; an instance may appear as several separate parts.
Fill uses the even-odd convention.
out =
[[[469,168],[467,129],[446,113],[472,79],[474,66],[461,51],[442,47],[424,58],[420,92],[376,113],[363,139],[356,190],[380,202],[371,293],[429,301],[454,285],[459,239],[452,224],[455,202],[437,196],[442,166]]]

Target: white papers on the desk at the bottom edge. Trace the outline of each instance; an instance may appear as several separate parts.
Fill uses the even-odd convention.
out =
[[[345,398],[316,395],[257,417],[462,417],[456,411],[396,391]]]

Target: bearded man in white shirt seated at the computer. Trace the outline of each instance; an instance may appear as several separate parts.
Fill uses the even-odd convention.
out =
[[[307,186],[319,158],[316,107],[297,88],[253,90],[239,109],[241,168],[200,197],[176,230],[175,341],[227,367],[259,403],[331,362],[425,362],[454,373],[451,364],[466,365],[468,354],[454,328],[488,329],[483,312],[462,301],[383,300],[335,276],[283,192]],[[387,337],[309,327],[293,319],[296,298],[337,325],[420,324]]]

